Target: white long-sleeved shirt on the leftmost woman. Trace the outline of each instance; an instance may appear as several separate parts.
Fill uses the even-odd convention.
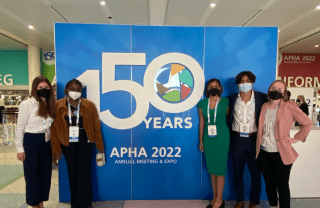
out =
[[[52,118],[48,117],[47,119],[44,119],[38,116],[38,109],[39,102],[34,97],[28,98],[19,105],[15,139],[18,153],[24,152],[24,132],[44,133],[45,130],[51,126]]]

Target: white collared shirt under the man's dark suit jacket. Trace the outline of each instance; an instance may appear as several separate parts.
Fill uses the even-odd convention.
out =
[[[239,101],[239,105],[238,105]],[[252,106],[253,105],[253,106]],[[245,103],[241,97],[240,92],[238,93],[238,97],[236,99],[236,103],[234,105],[234,112],[233,112],[233,122],[232,122],[232,130],[236,132],[240,132],[240,123],[248,123],[248,117],[250,114],[251,106],[252,114],[251,118],[249,120],[249,133],[257,132],[257,125],[256,125],[256,118],[255,118],[255,102],[254,102],[254,91],[252,90],[251,98],[250,100]],[[239,107],[240,107],[240,113],[241,113],[241,121],[240,121],[240,115],[239,115]]]

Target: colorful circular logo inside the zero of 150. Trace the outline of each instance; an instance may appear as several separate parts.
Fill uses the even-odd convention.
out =
[[[154,89],[163,100],[180,103],[192,93],[194,79],[190,70],[182,64],[171,63],[159,69]]]

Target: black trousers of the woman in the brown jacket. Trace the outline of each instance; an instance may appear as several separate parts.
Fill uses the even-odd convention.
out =
[[[79,142],[61,145],[66,159],[71,207],[85,208],[92,205],[91,161],[93,144],[88,143],[84,129],[80,129]]]

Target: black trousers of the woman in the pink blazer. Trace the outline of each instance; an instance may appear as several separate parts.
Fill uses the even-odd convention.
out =
[[[269,153],[264,150],[260,150],[258,161],[264,181],[266,182],[266,192],[270,206],[278,205],[278,191],[280,207],[289,208],[289,177],[292,164],[283,164],[279,152]]]

